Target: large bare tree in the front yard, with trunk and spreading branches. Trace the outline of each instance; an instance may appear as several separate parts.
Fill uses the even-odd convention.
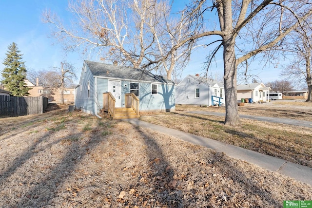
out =
[[[210,2],[210,3],[209,3]],[[217,17],[209,16],[216,9]],[[259,53],[274,62],[274,54],[287,35],[302,26],[312,15],[310,0],[193,0],[186,8],[194,34],[176,47],[194,39],[217,36],[207,45],[217,44],[209,53],[210,63],[223,49],[225,124],[240,125],[237,111],[237,67],[248,66],[248,60]],[[210,26],[205,28],[204,26]],[[208,54],[208,53],[207,53]],[[278,53],[276,53],[277,55]],[[208,64],[209,67],[209,64]],[[247,70],[247,68],[246,68]]]

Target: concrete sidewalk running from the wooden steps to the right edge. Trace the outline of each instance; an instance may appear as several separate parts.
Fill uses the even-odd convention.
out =
[[[299,164],[286,162],[285,160],[280,159],[280,158],[261,154],[255,151],[246,150],[246,149],[236,147],[233,145],[227,145],[227,144],[224,144],[222,142],[219,142],[213,139],[177,131],[174,129],[151,124],[151,123],[141,121],[138,119],[123,119],[123,120],[128,121],[131,124],[136,125],[136,126],[149,128],[157,132],[162,132],[168,135],[175,136],[179,139],[182,139],[187,142],[191,142],[196,145],[201,145],[207,148],[211,148],[218,152],[224,152],[228,156],[233,157],[235,159],[240,159],[240,160],[247,161],[249,163],[253,163],[267,170],[278,171],[298,181],[312,185],[312,168],[309,168],[307,166],[302,166]]]

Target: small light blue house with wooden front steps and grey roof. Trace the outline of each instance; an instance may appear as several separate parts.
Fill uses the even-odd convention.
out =
[[[175,83],[166,77],[85,60],[75,88],[75,106],[97,116],[104,110],[113,118],[137,117],[139,111],[175,110],[175,93]],[[137,116],[130,116],[131,109]],[[129,111],[129,116],[117,115],[118,111]]]

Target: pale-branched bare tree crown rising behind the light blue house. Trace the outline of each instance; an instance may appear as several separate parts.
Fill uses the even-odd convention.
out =
[[[186,38],[189,23],[169,18],[170,9],[166,0],[77,0],[69,3],[77,27],[63,25],[50,11],[43,18],[66,50],[97,51],[102,61],[164,72],[171,79],[183,69],[188,48],[171,49]]]

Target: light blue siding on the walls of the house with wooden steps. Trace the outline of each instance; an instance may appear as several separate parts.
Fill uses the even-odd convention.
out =
[[[108,81],[120,80],[95,76],[87,64],[84,64],[79,86],[76,88],[75,105],[86,113],[99,113],[103,108],[103,93],[108,92]],[[90,98],[88,98],[88,81],[90,81]],[[130,93],[130,82],[139,83],[140,111],[174,111],[176,86],[175,84],[156,83],[137,80],[121,79],[121,107],[125,107],[125,94]],[[152,95],[152,84],[157,84],[157,94]],[[81,90],[80,90],[81,89]]]

